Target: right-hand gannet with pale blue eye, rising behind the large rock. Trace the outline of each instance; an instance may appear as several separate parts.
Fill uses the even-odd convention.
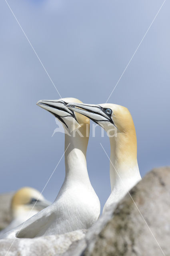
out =
[[[141,180],[132,116],[127,108],[116,104],[70,103],[67,106],[102,126],[110,138],[111,194],[104,205],[104,212]]]

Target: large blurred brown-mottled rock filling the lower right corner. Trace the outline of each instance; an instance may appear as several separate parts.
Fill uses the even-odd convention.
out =
[[[170,167],[146,174],[130,195],[88,231],[82,256],[170,255]]]

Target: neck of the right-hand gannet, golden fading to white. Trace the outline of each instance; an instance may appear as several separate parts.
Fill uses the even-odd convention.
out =
[[[110,184],[115,201],[141,179],[135,136],[132,138],[131,134],[118,132],[117,136],[110,138]]]

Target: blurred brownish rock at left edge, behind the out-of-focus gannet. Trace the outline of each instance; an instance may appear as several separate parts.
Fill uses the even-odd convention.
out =
[[[14,193],[0,194],[0,230],[11,222],[10,203]]]

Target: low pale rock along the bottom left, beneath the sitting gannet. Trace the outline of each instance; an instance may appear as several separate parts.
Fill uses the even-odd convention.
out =
[[[76,230],[62,235],[32,239],[2,239],[0,240],[0,256],[60,256],[68,250],[72,242],[82,239],[85,233],[86,230]]]

